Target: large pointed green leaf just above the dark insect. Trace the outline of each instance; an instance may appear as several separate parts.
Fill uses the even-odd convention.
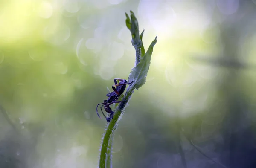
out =
[[[157,37],[151,42],[150,46],[148,47],[147,52],[143,56],[143,58],[140,60],[140,63],[137,64],[132,70],[129,75],[129,82],[135,81],[133,85],[135,85],[135,88],[139,90],[140,87],[143,86],[146,82],[146,77],[148,74],[148,69],[150,65],[151,55],[153,52],[153,47],[157,43]]]

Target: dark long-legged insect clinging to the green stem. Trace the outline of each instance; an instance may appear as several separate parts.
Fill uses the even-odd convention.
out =
[[[119,84],[117,84],[117,81],[119,81]],[[103,113],[102,111],[102,114],[103,116],[106,118],[107,122],[110,122],[111,119],[113,119],[113,116],[114,116],[114,112],[112,111],[110,105],[113,104],[113,103],[120,103],[122,101],[117,101],[118,100],[118,97],[125,91],[125,88],[126,88],[126,85],[127,84],[132,84],[134,81],[130,82],[130,83],[127,83],[127,81],[125,79],[119,79],[119,78],[115,78],[114,79],[114,82],[115,82],[115,85],[112,86],[112,89],[114,90],[113,92],[111,93],[108,93],[106,96],[108,96],[108,99],[107,100],[104,100],[103,103],[100,103],[100,104],[103,104],[101,107],[100,107],[100,110],[102,111],[102,107],[104,106],[104,109],[107,113],[109,113],[109,116],[106,117],[105,114]],[[116,88],[115,88],[116,87]],[[99,113],[98,113],[98,106],[100,105],[98,104],[97,107],[96,107],[96,112],[99,116]],[[99,116],[100,118],[100,116]]]

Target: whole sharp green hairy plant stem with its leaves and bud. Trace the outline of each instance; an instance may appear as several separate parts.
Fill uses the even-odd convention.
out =
[[[112,146],[113,146],[113,136],[114,131],[117,128],[117,121],[119,121],[119,117],[121,116],[123,110],[125,109],[126,104],[131,98],[132,93],[134,93],[134,89],[139,89],[140,87],[145,84],[146,76],[148,74],[148,69],[150,65],[151,55],[153,52],[153,47],[157,43],[157,37],[152,41],[150,44],[147,52],[145,53],[143,44],[142,44],[142,36],[139,34],[139,26],[134,13],[131,11],[131,19],[129,18],[128,14],[126,14],[126,26],[131,31],[132,35],[132,45],[136,51],[136,66],[131,70],[131,73],[128,78],[128,82],[135,81],[127,88],[122,101],[118,105],[118,107],[114,110],[115,115],[113,119],[107,126],[107,130],[103,137],[102,148],[100,152],[100,159],[99,159],[99,168],[111,168],[111,153],[112,153]],[[143,47],[141,51],[140,48]],[[141,55],[141,52],[144,55]],[[140,57],[142,56],[142,58]],[[141,58],[141,59],[140,59]]]

